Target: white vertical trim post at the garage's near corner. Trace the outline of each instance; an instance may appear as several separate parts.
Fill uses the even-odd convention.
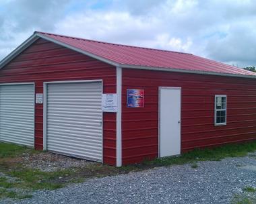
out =
[[[122,166],[122,68],[117,66],[117,166]]]

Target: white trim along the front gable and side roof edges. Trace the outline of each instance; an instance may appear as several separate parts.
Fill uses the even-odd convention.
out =
[[[34,34],[32,36],[30,36],[27,40],[25,40],[20,46],[18,46],[18,48],[15,48],[15,50],[13,50],[10,54],[5,56],[5,58],[3,58],[3,60],[0,61],[0,68],[3,68],[3,66],[5,66],[7,63],[9,63],[13,58],[15,58],[15,56],[18,56],[18,54],[20,54],[22,51],[24,51],[26,48],[28,48],[28,46],[30,46],[33,42],[35,42],[39,38],[43,38],[44,40],[48,40],[55,44],[59,44],[61,46],[64,46],[65,48],[69,48],[76,52],[80,52],[82,54],[85,54],[87,56],[95,58],[96,60],[100,60],[107,64],[122,67],[122,68],[136,68],[136,69],[143,69],[143,70],[160,70],[160,71],[165,71],[165,72],[183,72],[183,73],[191,73],[191,74],[207,74],[207,75],[216,75],[216,76],[224,76],[224,77],[242,77],[242,78],[256,79],[256,76],[247,75],[247,74],[230,74],[230,73],[223,73],[223,72],[206,72],[206,71],[200,71],[200,70],[186,70],[186,69],[178,69],[178,68],[164,68],[164,67],[154,67],[154,66],[138,66],[138,65],[132,65],[132,64],[119,64],[112,60],[102,58],[101,56],[98,56],[91,52],[86,52],[79,48],[75,48],[74,46],[70,46],[63,42],[59,42],[58,40],[54,40],[53,38],[49,38],[49,37],[44,36],[38,32],[34,32]]]

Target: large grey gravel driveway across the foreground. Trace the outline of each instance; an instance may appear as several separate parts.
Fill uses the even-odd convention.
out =
[[[96,178],[13,203],[230,203],[244,187],[256,187],[256,154],[197,164]]]

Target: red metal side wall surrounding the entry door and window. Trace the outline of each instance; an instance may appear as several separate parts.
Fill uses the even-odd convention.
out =
[[[256,139],[256,81],[123,69],[123,164],[158,156],[158,87],[182,88],[182,151]],[[145,107],[127,108],[126,90],[144,89]],[[214,126],[214,95],[227,95],[227,125]]]

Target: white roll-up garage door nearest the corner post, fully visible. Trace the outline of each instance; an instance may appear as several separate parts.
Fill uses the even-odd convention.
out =
[[[47,150],[102,161],[102,84],[47,85]]]

